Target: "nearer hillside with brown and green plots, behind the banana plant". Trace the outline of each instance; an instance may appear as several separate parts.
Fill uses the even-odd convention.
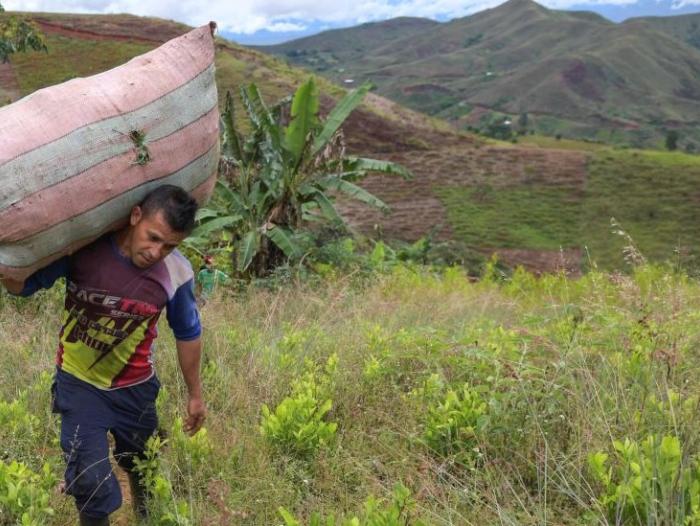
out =
[[[0,66],[0,101],[104,71],[188,30],[129,15],[31,17],[45,32],[49,53],[15,55]],[[255,82],[269,101],[308,74],[223,39],[216,61],[220,93]],[[319,85],[328,109],[342,89],[322,79]],[[591,261],[622,265],[625,240],[610,233],[615,217],[651,258],[680,249],[689,261],[698,252],[698,156],[536,135],[517,145],[485,140],[377,95],[351,116],[345,133],[352,152],[401,162],[416,176],[365,181],[392,207],[388,216],[343,204],[352,225],[368,234],[415,240],[435,231],[510,263],[577,271]]]

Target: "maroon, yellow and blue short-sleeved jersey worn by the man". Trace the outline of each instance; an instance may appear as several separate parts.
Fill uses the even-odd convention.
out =
[[[194,273],[177,250],[141,269],[119,252],[112,235],[37,271],[25,282],[29,296],[66,278],[66,301],[56,363],[101,389],[153,376],[152,346],[163,308],[175,338],[201,333]]]

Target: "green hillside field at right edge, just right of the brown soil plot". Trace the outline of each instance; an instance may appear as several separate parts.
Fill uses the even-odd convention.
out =
[[[680,153],[616,151],[589,165],[583,239],[608,268],[621,263],[619,236],[605,236],[610,218],[652,259],[676,259],[697,267],[700,198],[694,182],[700,157]]]

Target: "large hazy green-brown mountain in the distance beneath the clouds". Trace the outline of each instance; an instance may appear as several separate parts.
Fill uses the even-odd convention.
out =
[[[399,18],[259,49],[460,127],[700,146],[700,15],[621,24],[531,0],[436,23]]]

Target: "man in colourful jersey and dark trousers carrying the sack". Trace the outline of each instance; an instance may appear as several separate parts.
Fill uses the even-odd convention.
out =
[[[160,383],[151,354],[164,308],[189,394],[185,429],[195,433],[204,422],[194,273],[176,250],[191,232],[196,211],[186,191],[160,186],[131,210],[122,230],[23,282],[2,280],[9,292],[30,296],[66,278],[53,410],[61,415],[65,489],[75,498],[81,525],[108,525],[122,503],[108,432],[115,459],[129,475],[135,512],[146,515],[146,492],[133,468],[158,427]]]

